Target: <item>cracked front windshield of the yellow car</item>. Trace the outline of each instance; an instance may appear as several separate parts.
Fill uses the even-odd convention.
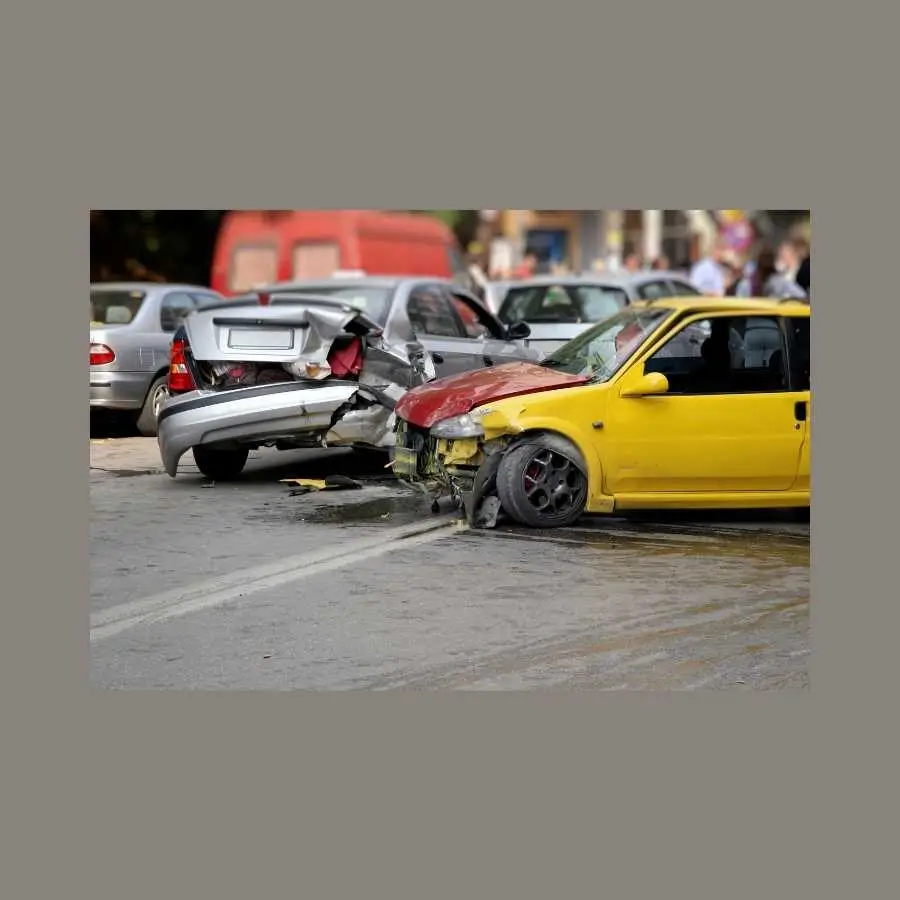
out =
[[[541,365],[609,381],[671,315],[670,309],[623,310],[563,344]]]

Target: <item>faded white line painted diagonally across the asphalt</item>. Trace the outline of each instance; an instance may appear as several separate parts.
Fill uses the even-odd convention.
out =
[[[425,524],[391,528],[377,536],[349,541],[331,550],[287,557],[274,563],[230,572],[188,587],[165,591],[143,600],[121,603],[91,616],[91,643],[121,634],[138,625],[147,625],[162,619],[209,609],[227,603],[235,597],[300,581],[313,575],[343,568],[351,563],[383,556],[404,547],[430,543],[464,528],[464,523],[456,519],[441,517]]]

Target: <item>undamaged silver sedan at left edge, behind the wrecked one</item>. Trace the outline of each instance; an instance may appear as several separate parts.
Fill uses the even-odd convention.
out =
[[[189,312],[222,300],[191,284],[92,284],[91,409],[133,412],[141,434],[156,434],[172,335]]]

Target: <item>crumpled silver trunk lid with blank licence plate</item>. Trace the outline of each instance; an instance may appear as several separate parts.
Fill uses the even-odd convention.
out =
[[[292,363],[320,360],[336,337],[377,329],[363,313],[332,298],[277,298],[217,304],[184,320],[194,359]]]

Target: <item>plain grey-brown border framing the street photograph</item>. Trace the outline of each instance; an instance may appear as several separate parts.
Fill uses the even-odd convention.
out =
[[[28,115],[26,127],[24,113],[8,110],[18,122],[6,123],[3,155],[4,279],[13,301],[6,321],[15,323],[7,329],[14,339],[5,371],[18,390],[5,392],[4,509],[12,522],[2,630],[11,826],[3,872],[11,890],[4,893],[67,896],[84,887],[95,898],[246,898],[275,888],[303,897],[431,898],[453,885],[454,896],[474,897],[646,897],[662,887],[666,896],[731,898],[818,896],[820,884],[823,894],[842,884],[847,896],[852,851],[870,829],[866,883],[860,872],[852,887],[880,893],[873,888],[895,879],[876,868],[874,851],[887,847],[890,831],[875,816],[894,779],[878,771],[888,755],[885,729],[867,728],[863,711],[877,714],[883,704],[887,717],[896,708],[893,691],[879,696],[892,680],[877,670],[892,659],[887,642],[897,633],[884,621],[897,593],[886,480],[897,444],[878,440],[872,428],[884,417],[872,406],[880,391],[851,397],[851,386],[883,384],[875,377],[878,339],[896,333],[883,316],[895,317],[897,304],[879,301],[891,282],[876,269],[894,258],[896,227],[874,203],[861,215],[865,198],[889,183],[873,165],[880,146],[866,141],[872,155],[851,169],[860,130],[841,128],[847,106],[820,111],[812,102],[806,23],[785,10],[761,10],[778,33],[759,38],[754,57],[737,24],[704,44],[697,29],[712,28],[712,20],[691,22],[679,41],[672,23],[648,28],[644,7],[615,14],[598,7],[593,27],[579,28],[585,43],[529,53],[520,29],[530,17],[512,9],[496,17],[496,38],[476,48],[473,32],[491,18],[479,9],[461,37],[469,52],[456,55],[455,66],[432,67],[423,63],[436,46],[448,46],[446,23],[418,61],[425,39],[410,36],[392,52],[396,23],[381,7],[371,7],[372,21],[354,10],[352,27],[342,7],[321,8],[313,26],[298,7],[294,28],[281,21],[269,29],[293,42],[284,67],[291,77],[279,92],[280,79],[266,73],[269,60],[245,43],[259,34],[257,8],[243,17],[229,11],[240,51],[232,55],[215,27],[217,7],[211,0],[208,7],[193,47],[215,52],[173,47],[176,64],[150,66],[140,64],[137,49],[153,43],[146,15],[124,7],[109,18],[79,12],[73,22],[90,29],[93,46],[73,40],[74,24],[42,34],[40,65],[22,70],[28,104],[16,108],[43,113]],[[36,33],[40,15],[39,7],[22,7],[18,23],[34,20],[28,33]],[[160,21],[157,8],[153,16]],[[134,25],[123,46],[126,18]],[[467,21],[461,10],[453,18]],[[403,27],[419,20],[407,16]],[[163,32],[183,37],[188,23],[180,11],[177,26],[162,23]],[[546,40],[546,29],[556,36],[552,25],[539,17],[533,30],[545,29]],[[309,38],[311,27],[321,43]],[[610,28],[627,36],[614,66],[614,44],[596,43]],[[340,35],[339,53],[322,46],[331,34]],[[638,39],[641,52],[632,53]],[[302,52],[293,52],[296,41]],[[779,46],[777,65],[757,64],[774,59]],[[103,68],[110,48],[126,54],[129,47],[133,66]],[[730,62],[704,47],[732,48]],[[554,86],[551,96],[523,71],[556,53],[589,60],[589,74]],[[864,43],[857,53],[845,42],[841,62],[858,56],[860,67],[841,65],[841,78],[859,78],[867,53]],[[523,70],[518,58],[531,62]],[[539,68],[542,78],[552,70]],[[429,69],[448,86],[429,89]],[[394,95],[376,79],[382,72],[393,90],[409,92],[402,112],[388,112]],[[476,83],[461,90],[469,72]],[[847,81],[842,95],[857,96]],[[229,82],[246,92],[243,103],[223,93]],[[303,84],[325,87],[306,94],[297,90]],[[188,102],[186,88],[206,95],[208,85],[217,86],[216,96],[199,107]],[[745,85],[752,96],[736,97],[735,86]],[[629,97],[637,87],[643,97]],[[316,96],[324,102],[315,104]],[[873,91],[858,96],[868,102]],[[448,119],[451,97],[462,103]],[[147,104],[155,98],[154,110]],[[657,99],[665,106],[660,118],[650,111]],[[286,114],[290,124],[254,140],[235,125],[242,109]],[[827,141],[820,142],[815,124],[825,116]],[[567,117],[572,129],[560,127]],[[449,124],[460,118],[463,128]],[[545,119],[548,127],[540,125]],[[613,119],[611,131],[604,123]],[[709,126],[699,134],[698,121]],[[177,124],[189,139],[173,139]],[[513,136],[519,127],[527,140]],[[303,177],[301,163],[314,177]],[[84,325],[78,296],[89,205],[679,207],[707,200],[803,207],[814,184],[822,205],[815,210],[811,694],[89,694],[86,385],[66,374],[84,366],[75,338]],[[872,246],[854,253],[855,235]],[[838,304],[865,309],[861,331]],[[862,340],[848,346],[848,328]],[[887,410],[890,420],[893,403]],[[20,440],[9,440],[12,434]],[[853,516],[857,498],[864,516]],[[873,616],[869,597],[877,601]],[[412,881],[417,888],[407,893]],[[708,889],[712,881],[716,890]]]

